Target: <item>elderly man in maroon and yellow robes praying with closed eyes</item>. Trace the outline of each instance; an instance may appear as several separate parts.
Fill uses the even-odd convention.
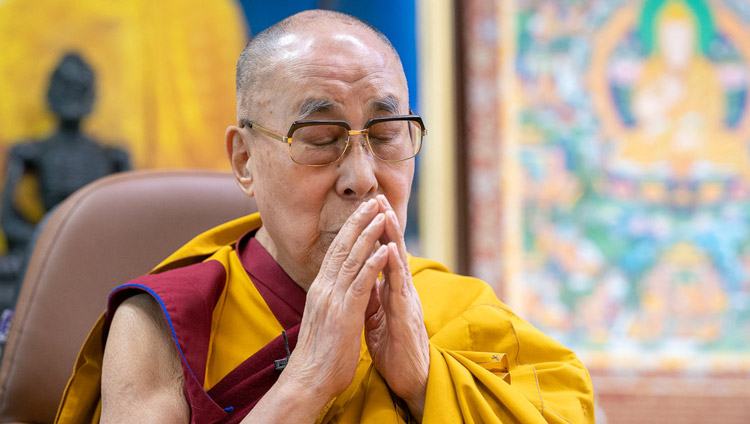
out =
[[[356,18],[258,34],[226,149],[260,214],[113,292],[58,421],[593,421],[572,352],[487,284],[407,254],[425,133],[408,98],[395,49]]]

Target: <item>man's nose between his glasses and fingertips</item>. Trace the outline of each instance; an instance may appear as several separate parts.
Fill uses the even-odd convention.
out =
[[[372,156],[364,134],[351,137],[347,152],[336,163],[336,192],[341,197],[359,200],[377,193],[379,161]]]

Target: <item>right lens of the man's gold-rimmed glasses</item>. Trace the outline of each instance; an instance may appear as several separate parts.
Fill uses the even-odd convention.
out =
[[[414,157],[422,144],[422,128],[416,121],[384,121],[370,126],[368,138],[378,159],[400,161]]]

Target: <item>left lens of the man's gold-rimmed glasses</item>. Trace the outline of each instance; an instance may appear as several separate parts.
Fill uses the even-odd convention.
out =
[[[340,125],[316,124],[292,133],[292,159],[304,165],[335,162],[346,147],[349,133]]]

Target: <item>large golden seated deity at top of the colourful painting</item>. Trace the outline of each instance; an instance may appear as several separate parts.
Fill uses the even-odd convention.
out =
[[[654,22],[656,44],[633,90],[636,128],[618,159],[678,180],[750,176],[747,146],[723,124],[725,90],[700,53],[694,13],[670,0]]]

